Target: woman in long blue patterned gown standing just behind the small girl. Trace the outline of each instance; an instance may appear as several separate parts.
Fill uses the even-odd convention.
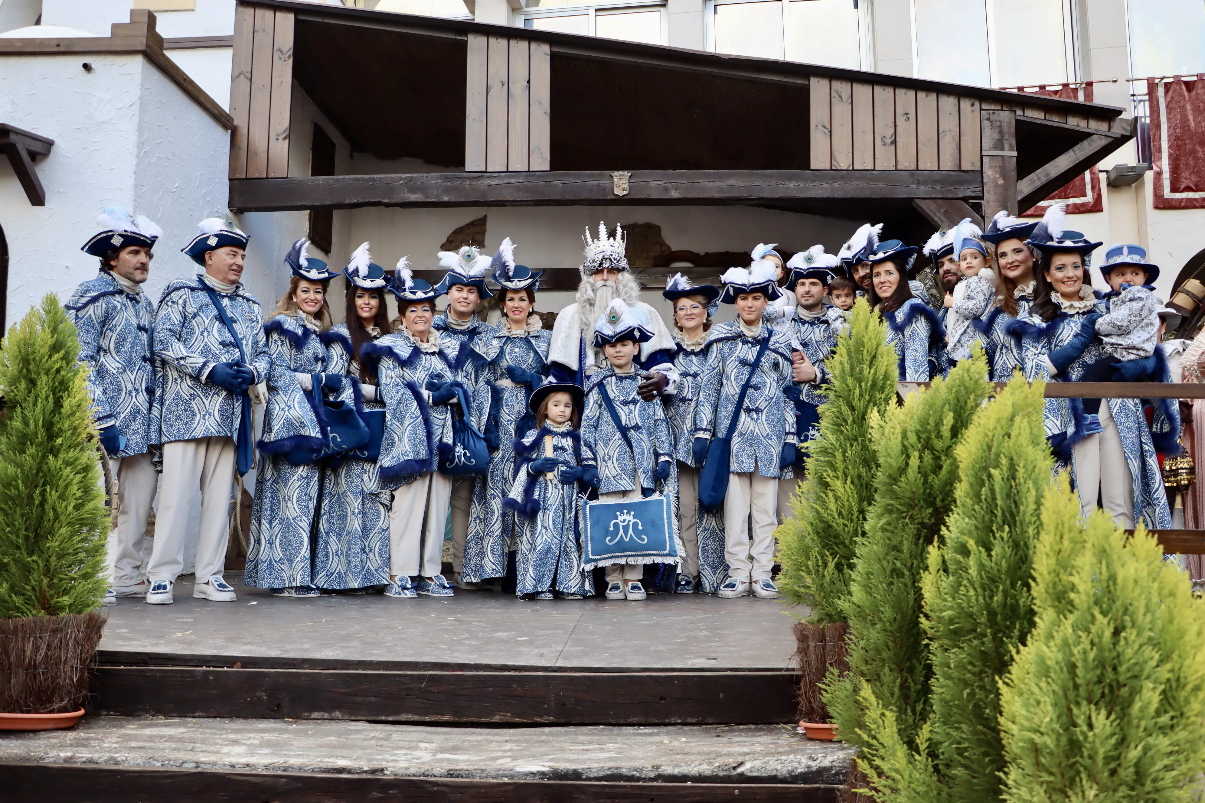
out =
[[[506,575],[515,549],[515,513],[502,506],[502,500],[515,485],[515,439],[527,435],[535,423],[528,403],[548,374],[552,341],[535,314],[540,272],[515,265],[510,254],[500,253],[493,277],[501,288],[502,321],[478,350],[489,362],[492,385],[487,439],[496,438],[498,450],[489,459],[486,492],[472,501],[460,573],[465,583]]]

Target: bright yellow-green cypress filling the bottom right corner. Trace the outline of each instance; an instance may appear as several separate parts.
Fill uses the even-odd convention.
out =
[[[1205,770],[1205,610],[1140,530],[1086,527],[1065,478],[1046,495],[1036,624],[1003,684],[1017,803],[1197,799]]]

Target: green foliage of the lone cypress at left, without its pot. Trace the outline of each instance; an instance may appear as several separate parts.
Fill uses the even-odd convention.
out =
[[[0,347],[0,618],[96,610],[108,516],[75,325],[53,294]]]

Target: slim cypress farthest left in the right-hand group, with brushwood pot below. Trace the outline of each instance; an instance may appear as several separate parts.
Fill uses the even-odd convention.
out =
[[[811,607],[815,624],[842,620],[854,542],[875,496],[878,460],[870,426],[894,400],[899,377],[886,326],[865,300],[854,303],[850,329],[825,362],[833,380],[819,408],[819,438],[810,444],[810,482],[794,500],[795,518],[776,531],[780,588],[792,602]]]

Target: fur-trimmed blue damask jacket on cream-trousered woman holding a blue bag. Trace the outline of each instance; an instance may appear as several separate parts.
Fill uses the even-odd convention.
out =
[[[394,490],[439,468],[440,455],[452,449],[452,417],[447,405],[431,405],[428,382],[455,380],[460,346],[439,338],[439,348],[423,352],[406,330],[366,343],[360,354],[377,366],[377,383],[384,400],[384,437],[377,466],[381,488]]]

